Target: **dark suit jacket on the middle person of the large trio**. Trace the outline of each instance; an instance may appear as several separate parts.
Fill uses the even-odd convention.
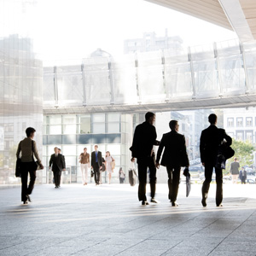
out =
[[[163,149],[164,153],[160,162]],[[170,131],[163,135],[157,151],[156,162],[161,166],[180,167],[189,166],[185,137],[177,131]]]

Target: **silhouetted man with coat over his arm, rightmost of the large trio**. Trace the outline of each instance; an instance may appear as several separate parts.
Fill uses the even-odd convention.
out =
[[[210,188],[210,183],[212,182],[212,172],[213,167],[215,168],[216,174],[216,206],[222,207],[223,200],[223,175],[222,169],[216,167],[218,148],[221,143],[226,141],[226,145],[230,146],[232,144],[232,139],[229,137],[224,129],[218,129],[217,124],[217,115],[211,113],[208,117],[209,123],[211,124],[207,129],[201,132],[200,138],[200,153],[201,153],[201,163],[205,166],[205,181],[202,185],[202,205],[207,207],[207,195]]]

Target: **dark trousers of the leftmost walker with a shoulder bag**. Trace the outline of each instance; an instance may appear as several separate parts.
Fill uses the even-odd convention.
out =
[[[21,201],[26,201],[26,195],[31,195],[36,181],[36,171],[32,171],[33,162],[21,162]],[[29,185],[27,187],[27,177],[30,175]]]

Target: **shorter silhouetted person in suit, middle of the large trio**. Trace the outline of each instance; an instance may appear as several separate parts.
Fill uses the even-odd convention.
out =
[[[185,137],[177,133],[179,125],[177,120],[172,120],[169,123],[172,131],[163,135],[160,146],[157,151],[156,167],[166,166],[168,173],[169,200],[172,207],[177,207],[177,191],[180,179],[181,166],[189,166],[189,158],[186,149]],[[164,154],[160,163],[160,156],[163,149]]]

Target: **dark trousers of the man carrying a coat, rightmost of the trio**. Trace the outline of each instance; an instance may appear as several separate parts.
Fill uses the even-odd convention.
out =
[[[210,189],[210,183],[212,182],[212,172],[213,172],[213,167],[215,165],[212,163],[205,163],[205,181],[202,185],[201,193],[202,193],[202,198],[207,199],[207,195]],[[223,189],[222,189],[222,183],[223,183],[223,174],[222,174],[222,169],[216,168],[215,167],[215,174],[216,174],[216,205],[220,205],[223,200]]]

